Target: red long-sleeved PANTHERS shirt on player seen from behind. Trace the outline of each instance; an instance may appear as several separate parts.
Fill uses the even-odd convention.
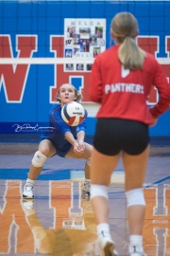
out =
[[[119,46],[111,46],[93,63],[90,82],[91,101],[101,103],[96,118],[133,119],[152,124],[169,108],[170,86],[161,65],[146,53],[143,70],[125,70],[118,59]],[[160,99],[152,108],[147,101],[155,85]]]

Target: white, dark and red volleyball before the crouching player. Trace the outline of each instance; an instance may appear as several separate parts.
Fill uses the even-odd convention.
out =
[[[86,111],[84,107],[76,101],[71,101],[65,104],[61,109],[61,118],[69,126],[76,126],[80,124],[85,117]]]

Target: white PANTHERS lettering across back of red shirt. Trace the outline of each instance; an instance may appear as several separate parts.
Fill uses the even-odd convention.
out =
[[[136,83],[117,82],[105,85],[105,93],[130,92],[144,94],[144,85]]]

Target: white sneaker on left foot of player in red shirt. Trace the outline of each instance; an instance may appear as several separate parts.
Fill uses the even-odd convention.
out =
[[[118,256],[117,250],[115,249],[114,242],[110,236],[102,231],[98,239],[99,245],[102,250],[103,256]]]

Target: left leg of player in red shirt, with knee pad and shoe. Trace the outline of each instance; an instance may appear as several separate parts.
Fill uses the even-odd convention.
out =
[[[119,160],[119,155],[103,155],[93,149],[91,164],[91,198],[97,234],[103,255],[116,256],[117,251],[110,236],[109,214],[110,205],[108,188],[110,176]]]

